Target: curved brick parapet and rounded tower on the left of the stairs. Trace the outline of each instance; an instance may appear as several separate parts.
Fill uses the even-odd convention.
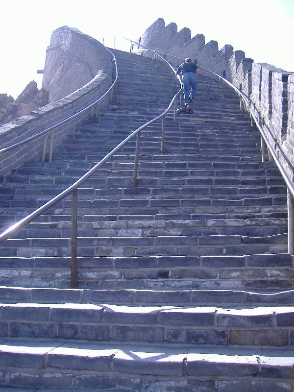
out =
[[[76,41],[76,44],[74,41]],[[88,83],[85,82],[83,87],[78,88],[76,91],[74,91],[75,88],[71,85],[69,92],[72,93],[67,95],[65,98],[59,99],[56,102],[50,102],[48,105],[34,110],[26,116],[22,116],[10,123],[0,126],[0,137],[2,142],[1,148],[8,147],[12,144],[25,140],[28,137],[45,130],[51,125],[61,122],[95,101],[95,99],[101,96],[109,88],[112,83],[112,56],[98,41],[78,31],[70,29],[69,27],[61,27],[55,30],[52,34],[51,45],[49,47],[49,57],[47,57],[46,60],[48,72],[45,72],[44,76],[46,76],[46,78],[44,84],[46,84],[46,80],[49,77],[49,71],[53,70],[52,66],[49,66],[52,59],[53,44],[55,47],[59,48],[63,45],[69,44],[69,42],[71,43],[72,48],[81,48],[82,42],[89,42],[88,46],[86,45],[84,49],[85,51],[88,50],[89,53],[91,49],[94,50],[95,55],[92,53],[92,56],[93,61],[94,59],[96,61],[96,69],[94,62],[91,66],[89,65],[94,77],[91,76],[91,80],[88,81]],[[80,53],[80,55],[81,54],[82,53]],[[57,57],[54,57],[54,59],[56,58]],[[63,57],[61,58],[61,61],[63,61]],[[66,70],[63,69],[62,72],[66,73]],[[57,81],[58,78],[55,79],[55,82]],[[70,83],[69,80],[67,82]],[[53,87],[54,83],[49,85],[49,95],[51,94],[51,99],[53,96],[51,88]],[[65,94],[65,91],[63,91],[63,94]],[[107,98],[100,102],[99,106],[105,105],[106,101]],[[62,140],[68,133],[72,132],[79,123],[90,117],[91,112],[92,109],[90,108],[68,123],[55,128],[54,146],[62,143]],[[11,170],[17,169],[29,159],[40,157],[43,151],[44,139],[45,135],[30,142],[29,147],[28,144],[26,144],[1,154],[0,175],[8,174]]]

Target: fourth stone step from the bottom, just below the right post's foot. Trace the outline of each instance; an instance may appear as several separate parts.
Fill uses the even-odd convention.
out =
[[[0,258],[1,285],[69,288],[68,257],[37,256],[21,249],[18,256]],[[264,252],[264,249],[261,249]],[[158,252],[158,250],[157,250]],[[288,254],[247,256],[79,256],[78,287],[90,289],[281,289],[293,288],[293,267]],[[198,252],[199,253],[199,252]],[[86,250],[83,249],[83,255]],[[101,254],[101,253],[100,253]]]

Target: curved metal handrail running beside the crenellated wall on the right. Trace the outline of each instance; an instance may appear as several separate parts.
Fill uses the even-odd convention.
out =
[[[126,39],[127,39],[127,38],[126,38]],[[130,40],[128,40],[128,41],[130,41]],[[134,44],[136,44],[136,45],[139,45],[137,42],[135,42],[135,41],[133,41],[133,40],[132,40],[132,42],[133,42]],[[164,54],[164,55],[167,55],[167,56],[171,56],[171,57],[177,58],[177,59],[179,59],[179,60],[184,60],[182,57],[174,56],[173,54],[165,53],[165,52],[162,52],[162,51],[159,51],[159,50],[156,50],[156,49],[149,49],[149,48],[147,48],[147,47],[144,47],[141,43],[140,43],[140,47],[142,47],[142,48],[144,48],[144,49],[146,49],[146,50],[150,50],[150,51],[152,51],[153,53],[156,53],[157,55],[159,55],[158,53],[161,53],[161,54]],[[161,57],[161,58],[162,58],[162,57]],[[257,117],[255,116],[254,111],[253,111],[252,108],[250,107],[251,104],[252,104],[251,99],[248,98],[248,97],[247,97],[241,90],[239,90],[233,83],[231,83],[231,82],[230,82],[229,80],[227,80],[225,77],[221,76],[219,73],[216,73],[216,72],[214,72],[214,71],[211,71],[211,70],[209,70],[208,68],[202,67],[202,66],[199,65],[199,64],[197,64],[197,66],[200,67],[201,69],[203,69],[203,70],[205,70],[205,71],[208,71],[208,72],[210,72],[210,73],[213,73],[214,75],[216,75],[216,76],[218,76],[219,78],[221,78],[221,80],[223,80],[228,86],[230,86],[231,88],[233,88],[233,89],[236,91],[236,93],[239,95],[239,97],[241,97],[241,98],[244,100],[245,105],[246,105],[246,107],[247,107],[247,109],[248,109],[250,115],[252,116],[252,119],[253,119],[254,122],[256,123],[256,126],[257,126],[258,130],[260,131],[262,137],[264,138],[264,140],[265,140],[265,142],[266,142],[266,144],[267,144],[268,149],[270,150],[270,154],[272,155],[273,160],[275,161],[275,163],[276,163],[276,165],[277,165],[277,168],[279,169],[279,171],[280,171],[280,173],[281,173],[281,175],[282,175],[282,177],[283,177],[283,179],[284,179],[284,181],[285,181],[285,183],[286,183],[286,185],[287,185],[287,188],[289,189],[289,191],[291,192],[292,196],[294,197],[294,185],[293,185],[293,183],[291,182],[291,180],[290,180],[288,174],[286,173],[286,171],[285,171],[284,168],[282,167],[282,165],[281,165],[281,163],[280,163],[280,161],[279,161],[279,159],[278,159],[278,157],[277,157],[277,155],[276,155],[274,149],[273,149],[273,148],[271,147],[271,145],[270,145],[270,142],[269,142],[269,140],[268,140],[268,138],[267,138],[267,136],[266,136],[266,134],[265,134],[265,131],[263,130],[263,128],[262,128],[262,126],[260,125],[260,123],[259,123]],[[271,132],[270,132],[270,135],[271,135],[271,137],[274,139],[274,136],[272,135]],[[281,148],[279,145],[277,145],[277,146],[278,146],[279,150],[281,151],[281,153],[284,155],[284,152],[283,152],[282,148]]]

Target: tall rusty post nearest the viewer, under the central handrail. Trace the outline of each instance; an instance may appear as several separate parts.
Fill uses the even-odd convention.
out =
[[[71,288],[76,288],[77,272],[77,189],[72,193]]]

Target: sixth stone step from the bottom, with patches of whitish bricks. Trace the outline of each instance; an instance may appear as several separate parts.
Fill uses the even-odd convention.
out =
[[[287,233],[287,220],[208,220],[205,221],[97,221],[77,222],[78,237],[148,237],[185,235],[263,236]],[[32,222],[14,238],[61,238],[71,235],[71,222]]]

